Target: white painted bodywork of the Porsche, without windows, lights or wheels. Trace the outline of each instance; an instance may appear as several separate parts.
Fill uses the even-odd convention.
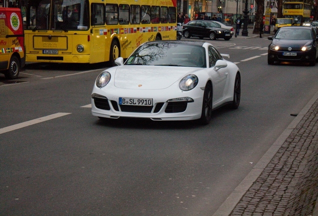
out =
[[[204,43],[207,51],[210,43]],[[206,55],[208,62],[208,55]],[[227,66],[218,68],[209,67],[185,67],[185,66],[156,66],[156,65],[120,65],[106,69],[111,75],[109,83],[104,87],[97,87],[94,83],[92,94],[106,97],[110,106],[109,110],[97,108],[94,98],[91,98],[91,112],[94,116],[119,118],[135,117],[150,118],[152,120],[193,120],[201,117],[204,87],[207,82],[212,83],[213,100],[212,109],[233,100],[234,80],[239,72],[236,64],[222,59]],[[195,74],[198,77],[197,85],[188,91],[179,88],[180,80],[188,75]],[[119,97],[126,98],[152,98],[151,112],[121,111],[114,108],[113,103],[119,101]],[[173,98],[190,97],[193,102],[188,102],[185,111],[165,112],[167,100]],[[112,101],[112,102],[111,102]],[[114,102],[115,101],[115,102]],[[157,103],[163,103],[159,111],[155,112]]]

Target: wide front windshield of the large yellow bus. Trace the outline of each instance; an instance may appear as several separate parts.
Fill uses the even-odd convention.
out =
[[[88,0],[29,1],[26,29],[87,30],[89,29]],[[29,18],[29,21],[27,19]]]

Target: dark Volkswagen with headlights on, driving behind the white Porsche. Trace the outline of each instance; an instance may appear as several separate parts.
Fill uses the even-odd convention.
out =
[[[269,36],[267,63],[275,61],[303,61],[314,66],[318,59],[318,36],[312,27],[288,26]]]

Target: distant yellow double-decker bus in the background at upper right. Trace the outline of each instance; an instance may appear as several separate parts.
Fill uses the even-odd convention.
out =
[[[310,21],[311,5],[299,1],[286,1],[283,3],[282,16],[293,18],[293,25],[301,25],[303,22]]]

